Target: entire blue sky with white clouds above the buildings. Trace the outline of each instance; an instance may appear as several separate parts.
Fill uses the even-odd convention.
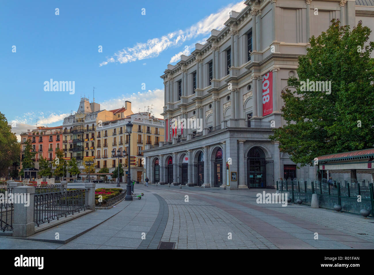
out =
[[[17,134],[36,124],[61,125],[66,114],[77,110],[81,95],[92,101],[95,86],[95,102],[102,109],[130,100],[132,111],[154,104],[154,115],[160,117],[159,76],[167,64],[192,52],[212,28],[221,29],[229,11],[240,11],[243,2],[2,0],[0,111],[16,122]],[[51,78],[75,81],[75,94],[44,91],[43,83]]]

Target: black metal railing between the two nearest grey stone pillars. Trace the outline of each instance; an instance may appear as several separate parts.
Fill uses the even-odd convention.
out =
[[[34,195],[34,222],[58,220],[88,208],[88,190],[75,189]]]

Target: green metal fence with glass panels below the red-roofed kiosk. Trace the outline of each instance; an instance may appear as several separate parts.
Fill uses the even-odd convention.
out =
[[[362,209],[370,211],[374,217],[373,183],[334,181],[329,184],[327,180],[287,180],[277,181],[277,190],[289,192],[291,201],[301,199],[303,204],[310,205],[312,194],[318,195],[319,207],[334,209],[334,205],[341,205],[344,212],[360,214]]]

